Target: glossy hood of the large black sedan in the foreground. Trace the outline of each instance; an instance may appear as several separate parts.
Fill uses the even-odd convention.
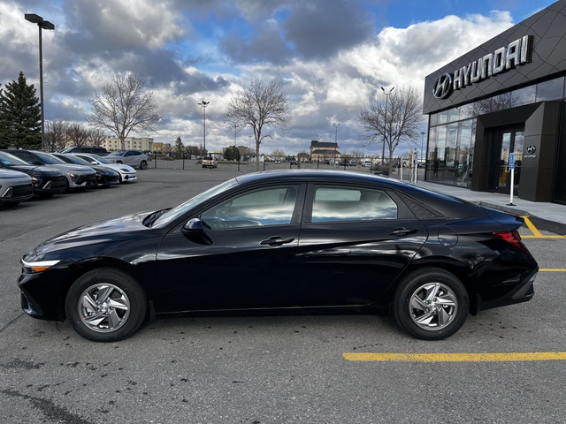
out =
[[[142,221],[149,212],[119,216],[96,223],[89,223],[71,231],[59,234],[53,239],[44,241],[35,248],[35,254],[43,254],[56,250],[76,248],[110,241],[124,242],[131,239],[155,236],[156,231],[143,225]]]

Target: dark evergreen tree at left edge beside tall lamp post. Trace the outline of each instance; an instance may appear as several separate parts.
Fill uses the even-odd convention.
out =
[[[0,148],[39,148],[42,118],[34,85],[28,86],[24,72],[18,81],[0,89]]]

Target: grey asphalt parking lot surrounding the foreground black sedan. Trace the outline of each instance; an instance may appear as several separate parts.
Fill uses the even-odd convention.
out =
[[[0,210],[0,422],[566,422],[566,238],[536,220],[520,231],[541,269],[532,301],[470,315],[439,342],[387,314],[240,314],[161,319],[96,344],[23,314],[19,258],[42,240],[239,173],[152,168]]]

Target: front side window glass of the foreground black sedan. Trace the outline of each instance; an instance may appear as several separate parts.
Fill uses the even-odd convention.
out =
[[[299,186],[265,187],[241,193],[201,215],[212,230],[289,224]]]

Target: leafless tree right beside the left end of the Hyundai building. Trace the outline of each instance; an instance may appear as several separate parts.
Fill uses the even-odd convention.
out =
[[[402,140],[414,145],[420,137],[423,104],[415,87],[402,87],[371,100],[358,116],[369,143],[385,142],[389,151],[389,173],[393,171],[395,148]],[[387,102],[387,103],[386,103]]]

